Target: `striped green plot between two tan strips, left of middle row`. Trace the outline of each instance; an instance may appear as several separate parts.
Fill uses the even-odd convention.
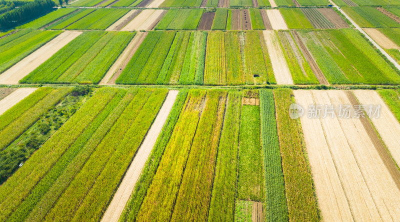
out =
[[[98,83],[132,32],[84,32],[25,76],[24,83]]]

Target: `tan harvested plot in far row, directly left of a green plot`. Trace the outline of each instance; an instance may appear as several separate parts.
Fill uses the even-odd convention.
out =
[[[126,24],[122,31],[151,30],[161,19],[166,10],[144,9],[133,20]]]

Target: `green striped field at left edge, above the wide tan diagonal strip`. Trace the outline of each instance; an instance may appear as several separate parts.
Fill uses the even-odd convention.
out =
[[[2,44],[0,46],[0,73],[60,33],[61,31],[34,30]],[[9,37],[14,38],[13,35]]]

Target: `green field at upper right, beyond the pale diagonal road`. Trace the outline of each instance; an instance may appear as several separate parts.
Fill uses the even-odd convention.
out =
[[[344,12],[360,27],[400,27],[400,23],[369,6],[342,7]]]

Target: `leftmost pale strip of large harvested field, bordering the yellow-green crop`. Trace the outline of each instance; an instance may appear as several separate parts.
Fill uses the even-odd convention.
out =
[[[296,103],[308,113],[315,103],[310,90],[295,90]],[[318,206],[325,221],[351,221],[352,215],[318,118],[300,118]]]

